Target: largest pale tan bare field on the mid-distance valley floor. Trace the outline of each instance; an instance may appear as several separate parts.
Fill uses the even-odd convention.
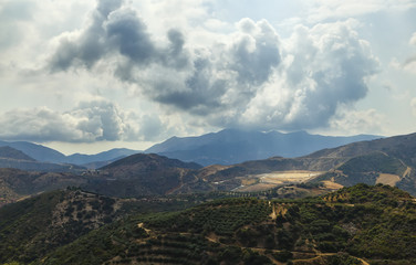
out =
[[[322,173],[323,172],[318,171],[291,170],[251,174],[249,177],[242,178],[241,187],[235,189],[235,191],[257,192],[270,190],[282,184],[301,183]]]

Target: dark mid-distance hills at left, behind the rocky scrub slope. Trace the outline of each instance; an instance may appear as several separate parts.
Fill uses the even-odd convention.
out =
[[[27,161],[17,162],[19,167],[23,167]],[[121,198],[214,191],[214,187],[197,178],[196,173],[200,168],[201,166],[193,162],[142,153],[117,160],[100,170],[48,172],[0,168],[0,205],[38,192],[66,187],[81,187],[87,191]]]

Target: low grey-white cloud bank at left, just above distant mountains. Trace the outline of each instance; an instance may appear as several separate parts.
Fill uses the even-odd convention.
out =
[[[81,102],[64,113],[46,107],[9,110],[0,116],[0,126],[3,140],[93,142],[155,139],[165,125],[147,115],[96,99]]]

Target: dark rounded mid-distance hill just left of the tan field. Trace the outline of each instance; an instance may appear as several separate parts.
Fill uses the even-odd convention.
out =
[[[87,174],[84,189],[105,195],[143,197],[211,190],[196,177],[201,166],[158,155],[136,153]]]

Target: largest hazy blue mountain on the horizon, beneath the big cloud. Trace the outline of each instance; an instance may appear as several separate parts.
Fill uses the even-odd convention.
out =
[[[183,161],[195,161],[202,166],[233,165],[274,156],[300,157],[323,148],[375,138],[379,137],[370,135],[331,137],[309,135],[305,131],[282,134],[225,129],[198,137],[173,137],[150,147],[145,152],[159,153]]]

